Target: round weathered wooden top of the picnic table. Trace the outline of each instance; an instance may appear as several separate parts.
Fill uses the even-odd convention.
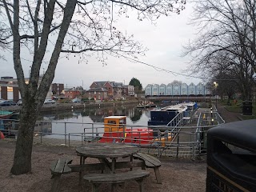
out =
[[[138,153],[137,146],[128,146],[125,143],[88,143],[76,148],[79,155],[89,158],[118,158],[129,157]]]

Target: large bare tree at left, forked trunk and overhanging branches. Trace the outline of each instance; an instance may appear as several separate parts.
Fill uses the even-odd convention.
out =
[[[184,4],[184,0],[0,0],[1,21],[8,21],[11,31],[6,41],[12,42],[14,69],[22,96],[20,128],[10,172],[26,174],[31,171],[34,124],[54,79],[61,53],[79,54],[80,61],[84,61],[95,51],[104,64],[106,54],[118,57],[144,54],[146,48],[134,41],[132,35],[123,34],[114,26],[118,18],[115,15],[129,17],[128,10],[135,10],[139,20],[154,22],[162,15],[179,13]],[[21,60],[24,48],[33,57],[28,83]],[[45,61],[47,70],[40,76]]]

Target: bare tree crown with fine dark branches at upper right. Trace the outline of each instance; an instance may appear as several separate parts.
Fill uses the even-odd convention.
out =
[[[242,88],[243,98],[250,98],[255,68],[255,1],[202,0],[195,1],[194,24],[200,31],[198,38],[185,48],[192,56],[190,69],[205,78],[213,78],[225,70]],[[249,66],[248,66],[249,65]],[[192,67],[191,67],[192,66]],[[250,84],[250,83],[249,83]],[[251,84],[250,84],[251,85]]]

